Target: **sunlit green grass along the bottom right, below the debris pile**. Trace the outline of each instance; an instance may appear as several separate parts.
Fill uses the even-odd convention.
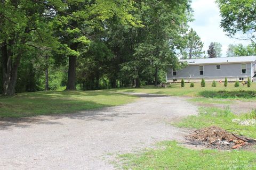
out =
[[[120,155],[123,169],[256,169],[256,154],[250,151],[192,150],[175,141],[140,154]],[[164,149],[163,149],[164,148]]]

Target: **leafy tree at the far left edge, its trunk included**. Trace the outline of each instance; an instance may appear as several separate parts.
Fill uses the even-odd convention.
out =
[[[32,48],[54,46],[50,15],[47,6],[41,6],[35,1],[0,1],[0,48],[4,95],[14,94],[21,59],[30,56],[30,52],[34,50]]]

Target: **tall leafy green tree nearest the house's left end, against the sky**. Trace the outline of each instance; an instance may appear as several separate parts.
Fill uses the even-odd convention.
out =
[[[188,1],[155,0],[145,1],[143,5],[145,28],[134,57],[143,63],[142,66],[146,64],[154,69],[156,86],[159,70],[166,70],[178,62],[175,50],[182,48],[182,35],[190,21],[190,7]]]

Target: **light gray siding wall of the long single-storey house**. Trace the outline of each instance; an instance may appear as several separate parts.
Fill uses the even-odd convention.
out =
[[[246,64],[246,74],[241,72],[241,64]],[[200,64],[203,65],[203,64]],[[216,65],[221,65],[221,70],[216,70]],[[173,79],[193,80],[193,79],[206,79],[218,80],[225,77],[230,78],[230,81],[235,81],[237,78],[246,78],[253,76],[252,63],[230,63],[230,64],[204,64],[204,75],[199,75],[199,65],[188,65],[182,70],[177,71],[177,76],[172,75],[172,69],[167,71],[167,81],[173,82]]]

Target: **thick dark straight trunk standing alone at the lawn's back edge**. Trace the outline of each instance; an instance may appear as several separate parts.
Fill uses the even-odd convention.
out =
[[[77,51],[78,43],[70,46],[71,49]],[[66,90],[76,90],[76,56],[68,57],[68,83]]]

